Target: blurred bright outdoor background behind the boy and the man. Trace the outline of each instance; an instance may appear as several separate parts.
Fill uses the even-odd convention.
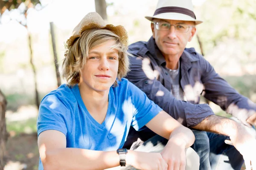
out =
[[[192,1],[204,23],[187,47],[256,102],[256,0]],[[156,5],[157,0],[0,0],[0,170],[38,169],[38,104],[65,83],[59,76],[64,42],[79,21],[97,11],[108,23],[124,26],[129,43],[147,41],[151,28],[144,17]]]

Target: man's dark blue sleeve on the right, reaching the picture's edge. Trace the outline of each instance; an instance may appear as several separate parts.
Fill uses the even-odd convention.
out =
[[[200,57],[200,67],[202,73],[204,73],[201,77],[201,81],[204,84],[202,93],[204,97],[238,118],[244,125],[247,125],[246,120],[252,115],[256,116],[256,104],[232,88],[203,57]],[[249,123],[256,125],[254,120]]]

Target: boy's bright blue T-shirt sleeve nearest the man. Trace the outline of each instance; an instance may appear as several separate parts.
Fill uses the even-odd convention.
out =
[[[148,99],[145,93],[131,82],[129,82],[129,91],[135,108],[131,125],[135,130],[143,130],[143,126],[163,109]]]

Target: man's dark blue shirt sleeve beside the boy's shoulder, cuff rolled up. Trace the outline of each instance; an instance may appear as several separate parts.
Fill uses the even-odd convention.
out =
[[[154,77],[157,71],[152,69],[148,58],[130,57],[130,62],[131,71],[126,78],[182,125],[195,126],[207,116],[214,114],[207,104],[193,105],[175,99],[171,92]]]

